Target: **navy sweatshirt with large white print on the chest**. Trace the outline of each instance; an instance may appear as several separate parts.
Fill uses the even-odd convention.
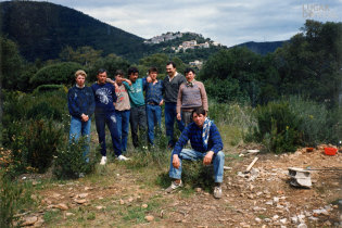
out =
[[[115,112],[113,102],[116,101],[117,97],[115,93],[115,87],[110,84],[93,84],[91,86],[94,101],[96,101],[96,113],[110,113]]]

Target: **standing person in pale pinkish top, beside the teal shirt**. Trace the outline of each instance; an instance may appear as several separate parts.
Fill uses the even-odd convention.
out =
[[[127,151],[127,138],[129,128],[130,102],[126,87],[123,81],[131,83],[125,78],[124,72],[117,69],[115,72],[115,81],[107,78],[109,83],[115,86],[117,100],[115,102],[115,116],[117,124],[118,140],[121,141],[123,153]]]

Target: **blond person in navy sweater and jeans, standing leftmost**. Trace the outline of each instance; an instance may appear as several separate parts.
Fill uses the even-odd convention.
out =
[[[78,141],[80,136],[86,137],[84,157],[89,153],[91,115],[94,111],[94,99],[90,87],[85,86],[87,74],[78,69],[75,73],[76,85],[67,92],[67,107],[72,116],[69,143]]]

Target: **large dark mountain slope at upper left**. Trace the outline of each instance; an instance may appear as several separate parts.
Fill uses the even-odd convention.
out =
[[[0,22],[1,34],[15,41],[28,61],[56,59],[66,46],[90,46],[128,60],[139,59],[149,48],[141,37],[49,2],[1,2]]]

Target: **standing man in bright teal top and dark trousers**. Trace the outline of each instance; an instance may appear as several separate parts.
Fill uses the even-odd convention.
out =
[[[139,71],[137,67],[128,68],[129,80],[131,86],[127,81],[124,81],[129,98],[130,98],[130,131],[131,140],[135,148],[139,147],[138,129],[140,131],[140,137],[145,138],[147,134],[147,113],[143,99],[143,88],[145,87],[147,79],[138,78]]]

